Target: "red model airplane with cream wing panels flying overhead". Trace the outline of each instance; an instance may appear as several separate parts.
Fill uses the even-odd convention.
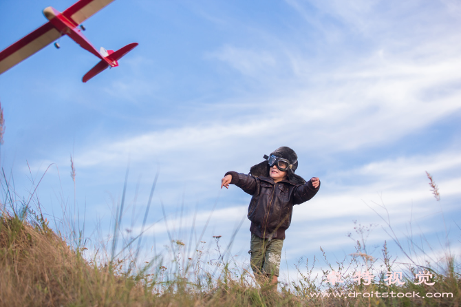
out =
[[[116,52],[114,50],[105,50],[101,47],[100,52],[98,52],[83,36],[81,32],[81,30],[85,30],[83,25],[80,26],[80,29],[78,28],[78,25],[83,21],[112,1],[114,0],[80,0],[62,13],[51,6],[45,8],[43,14],[49,20],[47,23],[0,52],[0,74],[3,74],[3,72],[27,59],[53,41],[56,41],[56,39],[64,34],[67,34],[71,39],[76,41],[83,49],[88,50],[101,59],[96,66],[83,76],[83,82],[87,82],[109,66],[118,66],[117,60],[130,52],[138,43],[130,43]],[[56,48],[59,48],[58,43],[54,43],[54,45]]]

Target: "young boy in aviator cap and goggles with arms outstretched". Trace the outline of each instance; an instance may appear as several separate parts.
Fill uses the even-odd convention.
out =
[[[248,207],[251,221],[251,268],[257,276],[272,277],[277,284],[281,248],[285,231],[290,226],[293,205],[310,200],[319,191],[317,177],[305,182],[294,174],[298,167],[298,156],[289,147],[280,147],[264,155],[263,162],[250,168],[250,173],[228,171],[221,180],[221,189],[235,184],[253,195]]]

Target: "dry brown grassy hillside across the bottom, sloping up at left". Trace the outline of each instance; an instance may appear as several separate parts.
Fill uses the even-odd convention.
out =
[[[458,306],[460,274],[449,259],[443,271],[430,266],[432,286],[387,285],[385,272],[392,263],[383,248],[387,268],[375,268],[376,260],[361,251],[350,263],[339,263],[343,283],[328,282],[333,267],[323,272],[323,282],[314,282],[312,272],[301,273],[299,282],[281,285],[275,291],[270,284],[258,284],[250,273],[238,274],[219,266],[214,275],[200,265],[182,268],[165,278],[164,266],[134,271],[123,265],[126,260],[97,264],[86,260],[81,248],[70,248],[63,237],[54,233],[45,220],[34,223],[6,212],[0,222],[0,304],[2,306]],[[82,248],[83,249],[83,248]],[[200,262],[200,260],[199,260]],[[351,276],[365,268],[377,275],[374,284],[359,285]],[[417,271],[422,268],[413,267]],[[198,271],[197,271],[198,270]],[[389,297],[376,297],[376,293]],[[354,294],[355,293],[355,294]],[[356,295],[356,293],[362,293]],[[364,293],[374,296],[364,297]],[[396,297],[392,297],[395,293]],[[418,293],[419,297],[397,297],[398,293]],[[427,297],[427,293],[452,293],[453,297]],[[334,297],[342,295],[342,297]],[[382,295],[382,294],[381,294]],[[330,297],[328,297],[330,296]],[[356,296],[356,297],[353,297]],[[426,296],[425,298],[422,298]]]

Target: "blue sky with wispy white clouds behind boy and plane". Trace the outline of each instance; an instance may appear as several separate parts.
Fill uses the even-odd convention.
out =
[[[2,1],[0,50],[45,23],[43,8],[72,4]],[[391,241],[369,208],[385,214],[382,203],[397,235],[406,240],[411,222],[434,255],[442,211],[459,252],[460,15],[451,0],[117,0],[85,21],[84,34],[97,48],[138,42],[120,67],[82,83],[98,59],[65,36],[60,50],[45,47],[0,75],[1,165],[27,197],[31,178],[54,163],[37,191],[59,218],[61,206],[74,203],[72,154],[87,236],[110,231],[127,167],[122,228],[139,231],[160,168],[148,223],[162,217],[162,201],[176,237],[187,240],[179,225],[190,227],[197,207],[200,233],[217,199],[205,241],[228,242],[250,196],[220,191],[222,176],[248,173],[264,154],[289,146],[297,173],[322,182],[294,209],[283,251],[290,270],[299,257],[319,255],[319,246],[332,259],[352,253],[353,220],[378,224],[370,244]],[[158,250],[168,242],[165,228],[152,228]],[[242,259],[248,228],[245,220],[233,246]],[[150,231],[147,250],[152,240]]]

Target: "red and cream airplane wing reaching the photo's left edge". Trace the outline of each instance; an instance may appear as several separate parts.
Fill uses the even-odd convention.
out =
[[[0,52],[0,74],[56,41],[62,35],[50,22],[47,22],[34,32],[24,36]]]

